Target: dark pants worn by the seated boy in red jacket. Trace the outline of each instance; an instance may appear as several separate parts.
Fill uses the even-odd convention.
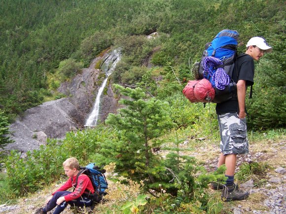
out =
[[[70,194],[70,191],[59,191],[56,192],[52,199],[49,201],[49,203],[45,206],[44,211],[48,212],[51,211],[52,209],[54,209],[57,204],[57,200],[58,198],[68,195]],[[57,208],[54,211],[54,214],[60,214],[61,212],[63,212],[65,210],[65,208],[68,206],[68,204],[70,204],[71,206],[78,206],[78,207],[88,207],[91,206],[92,201],[90,199],[88,199],[86,196],[80,196],[79,198],[77,198],[76,200],[72,200],[72,201],[64,201],[62,204],[58,205]]]

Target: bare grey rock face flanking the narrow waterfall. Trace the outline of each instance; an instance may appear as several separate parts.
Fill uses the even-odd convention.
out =
[[[11,139],[15,142],[8,144],[4,150],[26,152],[38,149],[39,145],[46,143],[47,137],[62,139],[66,132],[83,128],[97,92],[106,78],[106,73],[95,69],[95,65],[109,56],[107,51],[103,56],[94,59],[89,68],[82,69],[71,82],[61,84],[58,91],[67,97],[28,109],[24,116],[11,124]],[[106,87],[106,93],[101,97],[100,121],[104,121],[108,113],[115,113],[117,109],[117,100],[113,96],[111,84]]]

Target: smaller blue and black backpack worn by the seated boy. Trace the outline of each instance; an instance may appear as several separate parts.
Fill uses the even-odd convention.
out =
[[[106,190],[108,186],[104,175],[105,172],[105,170],[101,170],[100,167],[96,166],[95,163],[90,163],[85,167],[79,167],[74,186],[77,185],[78,176],[81,174],[87,175],[95,190],[94,194],[88,194],[89,198],[95,203],[104,202],[103,196],[107,195]],[[94,207],[94,205],[92,207]]]

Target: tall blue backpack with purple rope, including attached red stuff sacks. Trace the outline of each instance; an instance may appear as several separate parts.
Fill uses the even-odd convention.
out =
[[[183,90],[191,102],[221,103],[236,96],[236,83],[231,81],[231,76],[237,57],[238,37],[237,31],[222,30],[206,44],[195,69],[195,78],[199,81],[189,81]]]

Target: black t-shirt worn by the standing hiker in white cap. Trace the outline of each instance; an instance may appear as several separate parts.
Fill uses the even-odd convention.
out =
[[[254,76],[254,61],[252,57],[248,54],[241,54],[237,57],[234,72],[232,74],[231,79],[234,82],[238,82],[239,80],[246,80],[247,86],[252,86]],[[217,103],[216,107],[216,114],[223,114],[223,113],[238,113],[238,99],[232,98],[223,103]]]

